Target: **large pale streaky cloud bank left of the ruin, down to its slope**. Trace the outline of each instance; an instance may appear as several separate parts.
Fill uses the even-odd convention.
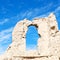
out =
[[[11,43],[13,27],[0,32],[0,54],[2,54]]]

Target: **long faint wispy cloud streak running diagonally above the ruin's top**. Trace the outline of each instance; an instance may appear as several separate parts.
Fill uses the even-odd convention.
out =
[[[24,19],[24,18],[32,19],[34,17],[37,17],[37,15],[41,15],[41,14],[45,13],[46,11],[48,11],[52,7],[52,5],[53,5],[53,3],[50,3],[48,6],[34,8],[34,9],[31,8],[27,11],[17,14],[17,16],[12,17],[11,19],[13,19],[13,18],[17,18],[18,20]]]

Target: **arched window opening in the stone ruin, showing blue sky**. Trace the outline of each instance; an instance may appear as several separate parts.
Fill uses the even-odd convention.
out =
[[[26,33],[26,49],[35,50],[37,49],[37,40],[39,38],[38,30],[35,26],[29,26]]]

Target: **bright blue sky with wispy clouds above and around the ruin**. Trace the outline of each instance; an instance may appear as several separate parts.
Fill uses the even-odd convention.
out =
[[[0,0],[0,54],[11,44],[11,34],[18,21],[45,17],[51,12],[56,15],[60,29],[60,0]]]

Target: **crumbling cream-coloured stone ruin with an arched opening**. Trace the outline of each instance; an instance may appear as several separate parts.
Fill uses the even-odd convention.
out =
[[[26,33],[29,26],[35,26],[38,34],[36,50],[26,50]],[[12,32],[12,44],[0,56],[1,60],[60,60],[60,31],[55,15],[33,21],[19,21]]]

